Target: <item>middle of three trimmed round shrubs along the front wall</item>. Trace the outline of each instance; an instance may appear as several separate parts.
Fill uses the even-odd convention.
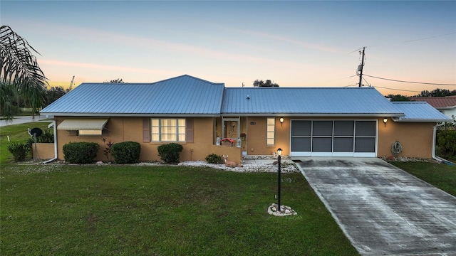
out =
[[[112,144],[110,152],[115,164],[134,164],[140,161],[141,144],[138,142],[119,142]]]

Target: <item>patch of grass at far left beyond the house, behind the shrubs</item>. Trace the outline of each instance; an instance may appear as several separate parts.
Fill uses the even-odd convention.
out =
[[[0,120],[0,122],[5,121]],[[0,127],[0,165],[13,161],[13,156],[8,151],[9,144],[14,142],[26,142],[28,138],[31,138],[27,129],[38,127],[44,131],[48,129],[48,124],[50,123],[51,122],[30,122]],[[51,129],[51,132],[53,132],[53,129]],[[8,141],[8,137],[10,141]]]

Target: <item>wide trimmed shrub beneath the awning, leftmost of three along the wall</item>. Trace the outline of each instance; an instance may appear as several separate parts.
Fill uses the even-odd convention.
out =
[[[63,157],[70,164],[90,164],[100,145],[95,142],[68,142],[63,145]]]

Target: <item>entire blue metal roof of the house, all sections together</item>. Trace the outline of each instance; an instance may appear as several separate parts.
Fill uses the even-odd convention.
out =
[[[224,87],[190,75],[153,83],[83,83],[41,110],[61,116],[346,116],[450,121],[426,102],[390,102],[373,87]]]

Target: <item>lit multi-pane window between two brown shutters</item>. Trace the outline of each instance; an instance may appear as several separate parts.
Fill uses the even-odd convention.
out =
[[[185,142],[185,119],[151,119],[152,142]]]

